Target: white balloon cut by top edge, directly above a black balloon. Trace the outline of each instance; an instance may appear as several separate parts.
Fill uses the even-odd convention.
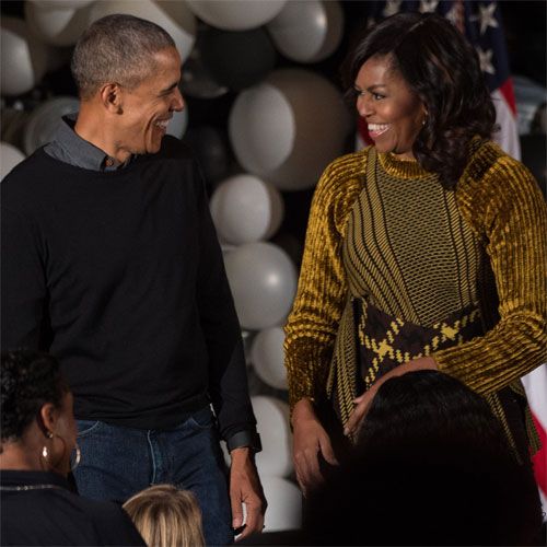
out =
[[[224,31],[247,31],[271,21],[287,0],[186,0],[206,23]]]

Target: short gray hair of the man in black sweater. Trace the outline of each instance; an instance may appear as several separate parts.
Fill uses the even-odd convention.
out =
[[[107,15],[95,21],[80,37],[71,70],[80,97],[85,100],[104,83],[136,88],[154,68],[154,54],[175,47],[159,25],[133,15]]]

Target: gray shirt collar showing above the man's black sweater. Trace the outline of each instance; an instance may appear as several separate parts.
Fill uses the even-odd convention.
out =
[[[44,148],[48,155],[70,165],[91,171],[116,171],[129,163],[118,164],[103,150],[82,139],[74,131],[77,117],[78,113],[74,113],[61,118],[54,140]]]

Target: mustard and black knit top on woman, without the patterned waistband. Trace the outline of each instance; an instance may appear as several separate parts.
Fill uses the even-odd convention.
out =
[[[423,354],[494,410],[500,389],[521,394],[519,379],[546,360],[545,200],[526,167],[494,143],[473,148],[455,191],[417,162],[374,148],[327,167],[286,326],[292,406],[336,391],[347,421],[360,373],[356,299],[423,327],[476,309],[484,336]]]

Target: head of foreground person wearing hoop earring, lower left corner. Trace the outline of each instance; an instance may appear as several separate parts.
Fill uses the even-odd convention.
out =
[[[68,475],[77,426],[57,360],[27,350],[2,353],[1,384],[1,468]]]

